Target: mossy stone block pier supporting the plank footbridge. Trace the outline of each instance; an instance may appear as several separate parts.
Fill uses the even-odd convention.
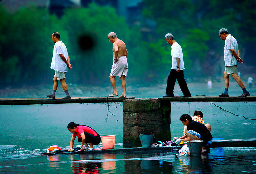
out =
[[[171,140],[171,103],[158,99],[123,102],[123,147],[141,147],[139,134],[154,133],[154,140]],[[153,141],[154,141],[153,140]]]

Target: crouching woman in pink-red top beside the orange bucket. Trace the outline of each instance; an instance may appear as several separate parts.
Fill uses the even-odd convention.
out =
[[[91,127],[86,125],[78,125],[74,122],[70,122],[68,124],[68,130],[73,133],[70,140],[70,149],[68,151],[73,151],[73,145],[75,138],[78,138],[78,142],[82,142],[80,151],[84,151],[88,148],[88,150],[93,149],[93,145],[100,144],[100,135],[98,132],[94,131]],[[90,147],[88,146],[88,144]],[[85,147],[84,147],[85,145]]]

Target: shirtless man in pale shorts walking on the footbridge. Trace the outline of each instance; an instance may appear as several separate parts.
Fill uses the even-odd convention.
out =
[[[108,34],[108,39],[111,43],[113,43],[113,65],[112,70],[109,76],[110,83],[113,87],[114,92],[109,97],[118,96],[116,90],[116,81],[115,77],[118,76],[122,82],[123,93],[119,97],[126,97],[125,90],[126,90],[126,82],[125,77],[127,76],[128,72],[128,64],[127,64],[127,49],[125,43],[116,37],[116,33],[110,32]]]

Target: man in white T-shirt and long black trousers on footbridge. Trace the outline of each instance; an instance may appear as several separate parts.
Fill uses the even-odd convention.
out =
[[[188,90],[188,85],[186,83],[186,80],[184,79],[185,68],[184,68],[184,62],[183,62],[183,53],[182,53],[180,44],[178,44],[178,42],[174,40],[173,35],[170,33],[165,35],[165,40],[167,41],[168,44],[172,45],[171,46],[172,68],[167,79],[166,95],[164,95],[164,97],[174,97],[173,89],[174,89],[176,79],[183,93],[183,96],[181,97],[191,97],[191,94]]]

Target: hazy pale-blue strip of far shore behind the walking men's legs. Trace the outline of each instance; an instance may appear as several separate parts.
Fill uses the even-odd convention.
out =
[[[241,95],[242,90],[237,83],[232,79],[230,80],[228,89],[229,95]],[[118,94],[122,94],[121,82],[116,80],[116,87]],[[256,94],[256,86],[249,88],[247,84],[245,87],[248,89],[251,95]],[[211,95],[217,96],[224,91],[224,82],[212,82],[212,89],[208,89],[207,82],[205,83],[188,83],[188,88],[193,95]],[[104,84],[102,86],[84,86],[68,84],[68,91],[71,97],[103,97],[108,96],[113,92],[112,86]],[[165,95],[166,84],[128,84],[126,87],[127,96],[135,96],[136,98],[160,98]],[[0,88],[0,98],[45,98],[46,95],[51,94],[52,85],[36,85],[21,87],[2,87]],[[181,96],[180,87],[176,82],[174,88],[174,95]],[[56,97],[65,97],[65,93],[59,83],[59,87],[56,92]]]

